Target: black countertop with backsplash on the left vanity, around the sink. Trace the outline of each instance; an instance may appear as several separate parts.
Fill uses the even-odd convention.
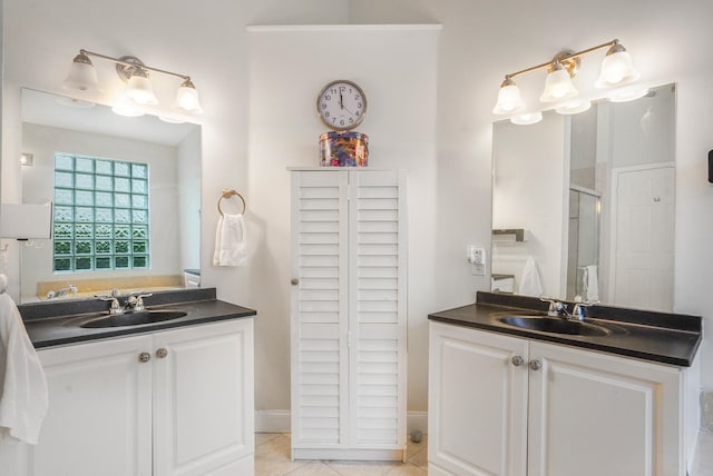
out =
[[[82,328],[84,323],[108,315],[109,303],[98,299],[69,299],[57,303],[20,305],[25,327],[36,348],[110,337],[155,333],[176,327],[255,316],[257,313],[216,299],[215,288],[155,292],[144,298],[150,310],[180,310],[186,316],[139,326]]]

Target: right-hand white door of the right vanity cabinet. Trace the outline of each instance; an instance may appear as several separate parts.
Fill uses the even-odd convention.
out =
[[[680,369],[530,344],[529,476],[682,475]]]

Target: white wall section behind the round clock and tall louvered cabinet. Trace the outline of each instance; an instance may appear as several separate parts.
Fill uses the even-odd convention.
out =
[[[258,409],[290,408],[290,173],[316,167],[315,98],[334,79],[360,85],[369,109],[355,129],[369,136],[369,168],[408,178],[409,408],[427,407],[427,315],[434,300],[436,65],[439,27],[304,27],[251,31],[251,298]],[[329,59],[329,61],[326,61]],[[285,73],[289,81],[285,82]],[[465,245],[463,245],[465,246]],[[270,282],[270,286],[264,284]]]

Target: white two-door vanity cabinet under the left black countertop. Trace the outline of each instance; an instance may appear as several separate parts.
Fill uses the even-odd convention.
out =
[[[253,474],[252,318],[38,354],[50,407],[18,476]]]

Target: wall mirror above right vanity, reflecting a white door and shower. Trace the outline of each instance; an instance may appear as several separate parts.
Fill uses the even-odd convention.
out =
[[[494,125],[492,289],[671,311],[675,85]]]

